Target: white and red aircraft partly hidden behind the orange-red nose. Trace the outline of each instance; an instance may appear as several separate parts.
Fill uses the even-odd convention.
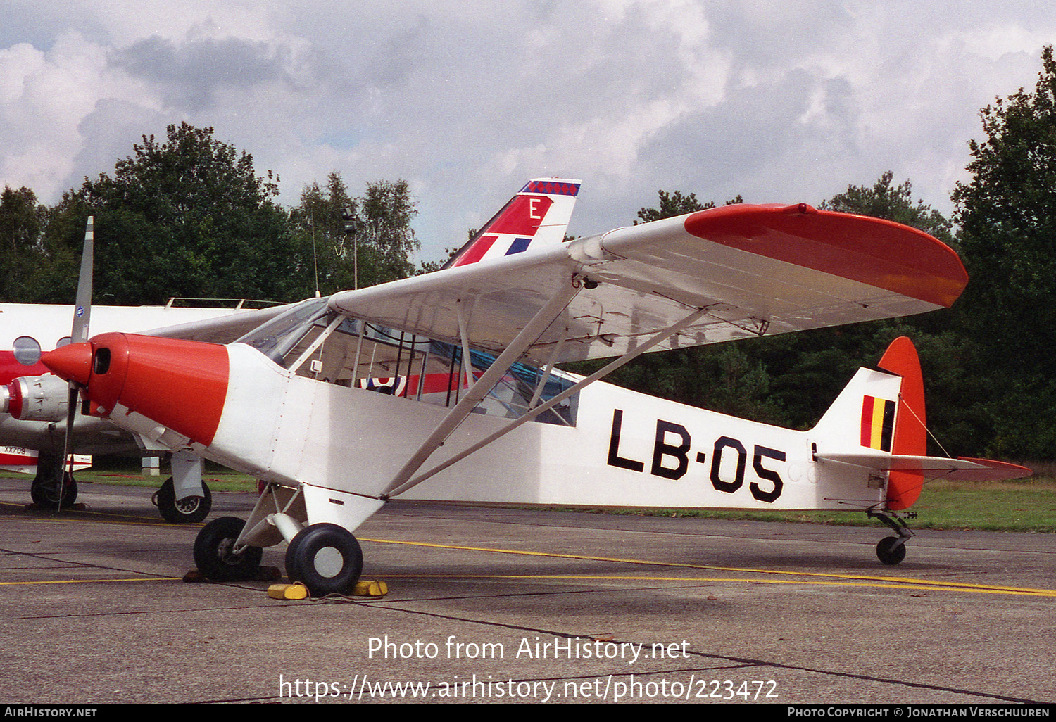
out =
[[[91,307],[92,222],[86,233],[86,256],[80,286],[86,298],[75,306],[52,304],[0,304],[0,470],[35,474],[30,494],[34,502],[55,509],[73,506],[77,482],[73,471],[91,466],[93,454],[157,455],[168,449],[152,448],[119,426],[75,410],[70,449],[64,464],[69,393],[67,382],[40,363],[42,352],[71,341],[78,325],[91,316],[95,330],[138,329],[174,338],[231,341],[279,312],[277,308],[244,310],[240,307],[193,308],[173,306]],[[80,296],[82,291],[78,291]],[[215,336],[203,321],[228,319],[224,335]],[[234,319],[244,321],[240,326]],[[71,320],[77,319],[71,331]],[[151,330],[156,329],[156,330]],[[84,328],[87,338],[87,327]],[[10,350],[6,350],[10,349]],[[63,471],[65,468],[65,471]],[[201,521],[210,509],[211,494],[202,481],[202,459],[186,452],[172,458],[173,477],[166,480],[155,502],[169,521]],[[60,484],[60,479],[62,482]]]

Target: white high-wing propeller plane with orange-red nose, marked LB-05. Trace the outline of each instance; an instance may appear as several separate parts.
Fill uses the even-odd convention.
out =
[[[563,243],[579,189],[531,180],[445,269],[309,299],[234,343],[112,332],[42,361],[94,415],[267,482],[247,521],[199,534],[206,576],[252,575],[262,548],[285,540],[288,576],[314,595],[358,580],[353,532],[396,496],[860,510],[897,532],[876,553],[898,564],[911,535],[901,512],[925,478],[1030,473],[926,456],[907,339],[806,432],[599,381],[645,352],[947,307],[967,274],[921,231],[806,204]],[[604,357],[587,377],[555,368]]]

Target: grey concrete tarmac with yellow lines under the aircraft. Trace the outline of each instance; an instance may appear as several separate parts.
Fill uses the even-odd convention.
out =
[[[392,502],[379,597],[191,584],[151,489],[0,480],[0,701],[1056,702],[1056,535]],[[210,519],[245,517],[216,493]],[[285,545],[264,565],[283,567]]]

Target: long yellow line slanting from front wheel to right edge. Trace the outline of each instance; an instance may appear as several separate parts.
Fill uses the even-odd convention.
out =
[[[937,590],[942,589],[946,591],[950,590],[962,590],[962,591],[979,591],[979,592],[989,592],[999,594],[1023,594],[1029,596],[1056,596],[1056,589],[1033,589],[1030,587],[1005,587],[1005,586],[995,586],[985,584],[969,584],[964,582],[942,582],[936,580],[914,580],[911,577],[903,576],[873,576],[868,574],[835,574],[830,572],[798,572],[798,571],[785,571],[779,569],[750,569],[750,568],[738,568],[738,567],[715,567],[709,565],[697,565],[697,564],[684,564],[679,562],[656,562],[650,559],[628,559],[609,556],[590,556],[584,554],[559,554],[553,552],[536,552],[536,551],[524,551],[520,549],[494,549],[489,547],[464,547],[458,545],[445,545],[445,544],[430,544],[426,542],[402,542],[394,539],[367,539],[360,538],[360,542],[374,542],[377,544],[403,544],[408,546],[415,547],[430,547],[434,549],[458,549],[463,551],[480,551],[480,552],[491,552],[496,554],[521,554],[524,556],[548,556],[565,559],[583,559],[587,562],[615,562],[618,564],[636,564],[644,566],[655,566],[655,567],[678,567],[682,569],[701,569],[708,571],[722,571],[722,572],[738,572],[738,573],[749,573],[749,574],[778,574],[782,576],[796,576],[796,577],[823,577],[823,578],[833,578],[833,580],[846,580],[849,582],[866,582],[875,583],[881,586],[897,585],[900,588],[922,588]],[[449,575],[450,576],[450,575]],[[590,578],[590,577],[580,577],[580,578]],[[663,577],[647,577],[647,578],[663,578]],[[676,580],[681,581],[681,580]],[[757,580],[739,580],[743,582],[758,582]],[[795,583],[806,583],[804,581],[786,581],[785,584],[795,584]],[[817,582],[813,584],[819,584]],[[836,582],[831,582],[829,584],[840,584]]]

